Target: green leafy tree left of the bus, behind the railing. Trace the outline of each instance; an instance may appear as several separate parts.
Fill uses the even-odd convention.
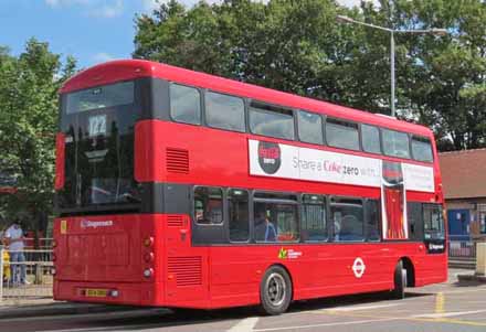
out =
[[[57,90],[74,69],[73,57],[62,67],[60,55],[35,39],[17,57],[0,51],[0,170],[18,181],[18,193],[1,197],[8,218],[27,212],[45,229],[53,206]]]

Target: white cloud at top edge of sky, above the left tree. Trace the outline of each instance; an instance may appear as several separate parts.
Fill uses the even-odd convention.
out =
[[[124,12],[124,0],[44,0],[55,8],[82,7],[82,12],[95,18],[115,18]]]

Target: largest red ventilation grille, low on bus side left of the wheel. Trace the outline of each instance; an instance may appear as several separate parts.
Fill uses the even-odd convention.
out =
[[[168,272],[176,276],[177,286],[200,286],[202,257],[168,257]]]

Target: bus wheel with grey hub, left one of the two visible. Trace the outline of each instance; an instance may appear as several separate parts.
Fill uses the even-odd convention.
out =
[[[279,266],[266,270],[260,283],[260,310],[264,314],[281,314],[292,301],[292,281]]]

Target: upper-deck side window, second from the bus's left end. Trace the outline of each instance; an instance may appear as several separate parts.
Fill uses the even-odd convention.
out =
[[[242,98],[205,94],[205,121],[208,126],[234,131],[245,131],[245,107]]]

